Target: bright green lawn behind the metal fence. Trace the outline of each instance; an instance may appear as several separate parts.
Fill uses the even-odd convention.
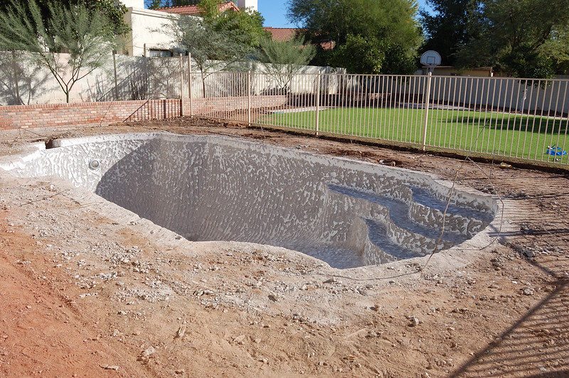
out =
[[[318,130],[422,146],[423,109],[336,108],[318,115]],[[316,111],[269,114],[259,124],[316,131]],[[427,146],[566,163],[548,146],[569,151],[568,119],[497,112],[430,109]]]

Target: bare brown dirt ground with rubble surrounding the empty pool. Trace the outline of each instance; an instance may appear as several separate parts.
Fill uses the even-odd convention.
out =
[[[360,279],[285,249],[188,242],[57,178],[0,173],[1,377],[569,376],[568,173],[189,119],[20,131],[0,154],[128,131],[456,175],[504,198],[507,231],[457,269],[420,259]]]

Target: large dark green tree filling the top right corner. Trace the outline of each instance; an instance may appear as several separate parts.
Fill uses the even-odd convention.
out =
[[[514,77],[552,77],[569,57],[568,26],[567,0],[482,0],[471,15],[475,37],[459,49],[457,62]]]

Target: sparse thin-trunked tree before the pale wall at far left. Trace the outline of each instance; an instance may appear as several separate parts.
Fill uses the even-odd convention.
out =
[[[83,4],[49,4],[48,10],[46,17],[35,0],[26,6],[12,1],[0,13],[0,47],[28,52],[32,63],[51,72],[69,102],[75,83],[110,58],[115,31],[105,13]]]

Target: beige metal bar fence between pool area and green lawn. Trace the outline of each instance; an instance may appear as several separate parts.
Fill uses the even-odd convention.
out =
[[[202,73],[187,57],[149,72],[147,96],[180,99],[184,115],[569,164],[569,80]]]

